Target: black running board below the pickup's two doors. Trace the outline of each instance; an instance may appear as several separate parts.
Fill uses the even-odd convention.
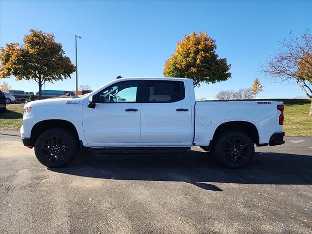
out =
[[[104,147],[87,148],[95,154],[182,154],[191,147]]]

